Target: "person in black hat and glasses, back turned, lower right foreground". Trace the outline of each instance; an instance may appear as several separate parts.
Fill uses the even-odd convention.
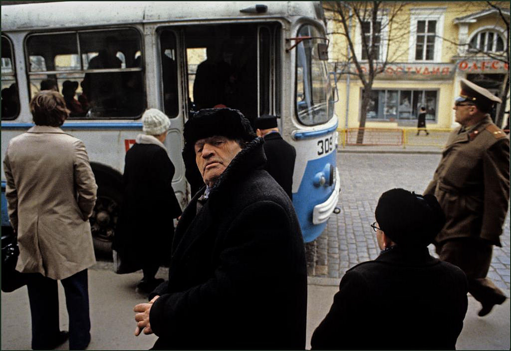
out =
[[[382,249],[341,279],[312,349],[454,349],[467,313],[467,278],[429,255],[445,223],[432,195],[382,194],[371,225]]]

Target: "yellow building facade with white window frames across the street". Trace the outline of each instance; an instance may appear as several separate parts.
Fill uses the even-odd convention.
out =
[[[496,4],[500,12],[485,2],[406,3],[399,10],[396,3],[382,3],[377,23],[381,26],[378,41],[381,60],[387,64],[373,83],[365,127],[416,126],[420,107],[427,110],[429,128],[455,127],[452,106],[459,94],[461,78],[499,96],[509,66],[491,56],[505,57],[502,54],[508,48],[508,30],[502,16],[509,21],[509,3]],[[347,57],[355,54],[362,71],[367,69],[367,61],[361,54],[361,24],[355,18],[346,20],[353,42],[351,48],[345,39],[346,31],[335,20],[339,18],[335,5],[326,3],[325,10],[329,33],[334,33],[330,34],[329,57],[338,79],[339,127],[359,127],[363,85],[356,75],[346,74],[357,72],[353,63],[346,62]],[[345,10],[349,13],[348,6]],[[364,33],[373,30],[374,24],[362,25],[367,26]],[[490,55],[477,53],[474,48]],[[509,110],[509,98],[502,100],[506,111]]]

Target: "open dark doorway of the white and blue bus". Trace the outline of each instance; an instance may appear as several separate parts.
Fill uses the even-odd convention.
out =
[[[272,38],[280,33],[280,26],[272,22],[162,29],[160,42],[166,113],[169,116],[179,113],[175,97],[181,93],[180,89],[183,89],[180,107],[187,109],[187,117],[203,108],[229,107],[240,110],[253,126],[261,114],[278,113],[280,98],[276,97],[276,50]],[[182,38],[182,42],[179,41],[183,45],[183,57],[173,56],[180,55],[172,51],[176,37]],[[184,75],[180,74],[180,62],[185,63]],[[174,72],[176,70],[177,73]],[[175,80],[169,79],[170,76],[180,76],[183,84],[176,84]],[[194,162],[195,157],[184,156],[191,196],[203,185]]]

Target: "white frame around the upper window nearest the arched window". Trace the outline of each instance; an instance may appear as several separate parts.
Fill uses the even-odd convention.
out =
[[[442,44],[444,37],[444,17],[447,8],[414,8],[410,9],[410,38],[408,50],[408,62],[441,62]],[[433,60],[415,60],[415,44],[417,38],[417,21],[436,21],[435,48]]]

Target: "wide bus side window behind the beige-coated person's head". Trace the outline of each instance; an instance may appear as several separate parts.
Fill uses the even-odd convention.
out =
[[[41,82],[57,82],[57,89],[65,93],[70,118],[138,118],[145,110],[137,31],[34,34],[28,37],[27,48],[30,95],[41,89]]]

